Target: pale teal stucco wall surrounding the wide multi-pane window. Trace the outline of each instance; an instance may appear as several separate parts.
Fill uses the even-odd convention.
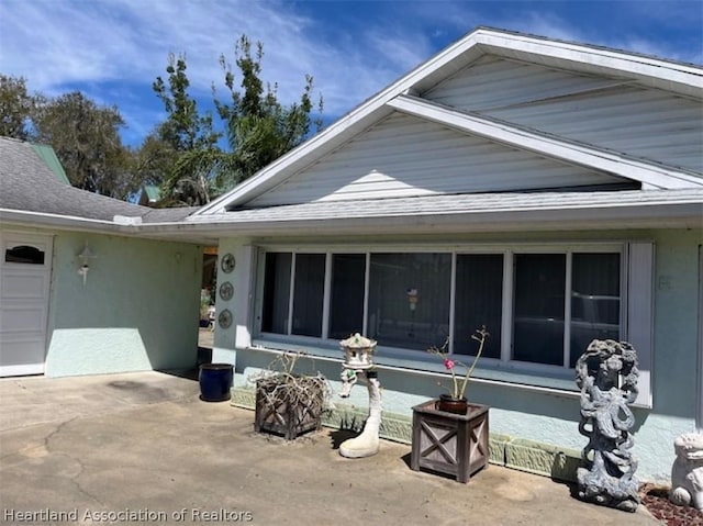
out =
[[[634,455],[639,460],[637,475],[641,480],[666,481],[671,473],[674,460],[673,440],[682,433],[695,430],[696,411],[701,403],[698,392],[698,377],[701,374],[702,359],[699,356],[699,331],[701,312],[699,311],[699,246],[703,243],[703,230],[660,230],[660,231],[611,231],[611,232],[558,232],[558,233],[525,233],[516,242],[578,242],[578,240],[654,240],[655,243],[655,276],[654,276],[654,352],[651,356],[651,394],[652,407],[635,407],[636,425],[634,428]],[[362,242],[369,247],[382,246],[387,239],[366,238],[349,239]],[[393,239],[395,243],[401,239]],[[427,246],[442,243],[515,243],[514,234],[481,234],[472,236],[451,236],[442,239],[413,237],[409,245],[419,246],[427,242]],[[222,247],[237,250],[244,242],[238,239],[221,239]],[[254,243],[256,240],[247,240]],[[267,239],[267,245],[276,246],[275,239]],[[281,245],[299,244],[309,247],[324,244],[324,239],[281,239]],[[334,240],[332,242],[334,243]],[[252,271],[255,267],[252,267]],[[252,281],[252,276],[237,276],[237,282]],[[250,291],[252,292],[252,291]],[[248,305],[252,307],[253,301]],[[242,313],[239,306],[237,316],[242,320],[255,320],[256,313]],[[220,307],[219,307],[220,309]],[[253,325],[249,325],[253,326]],[[235,328],[219,332],[215,345],[225,356],[228,351],[234,362],[236,356],[237,383],[245,383],[245,370],[267,368],[275,356],[265,350],[244,349],[234,346],[238,338]],[[256,335],[255,335],[256,337]],[[304,345],[305,350],[315,354],[314,344]],[[236,349],[236,350],[235,350]],[[320,350],[321,355],[332,357],[330,347]],[[337,380],[341,372],[342,354],[337,361],[319,358],[315,368],[327,378]],[[423,366],[424,367],[424,366]],[[479,365],[480,368],[480,365]],[[426,367],[424,367],[426,369]],[[412,406],[436,396],[440,391],[438,381],[447,381],[445,374],[423,371],[412,371],[381,367],[380,380],[383,385],[383,409],[386,411],[412,414]],[[480,371],[478,374],[480,377]],[[580,450],[588,439],[579,434],[579,393],[576,391],[550,390],[506,384],[495,381],[476,380],[469,385],[468,395],[472,402],[487,404],[491,407],[491,433],[525,438],[547,445]],[[356,388],[355,388],[356,389]],[[366,396],[364,389],[357,389],[355,403],[364,404]],[[336,394],[335,394],[336,396]],[[336,400],[339,400],[338,398]]]

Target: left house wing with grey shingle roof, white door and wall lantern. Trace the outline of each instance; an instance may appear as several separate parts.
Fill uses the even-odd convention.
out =
[[[200,240],[135,228],[192,209],[129,204],[60,174],[49,147],[0,137],[0,376],[194,366]]]

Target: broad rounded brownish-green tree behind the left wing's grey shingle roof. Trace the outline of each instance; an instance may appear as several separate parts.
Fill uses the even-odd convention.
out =
[[[74,187],[116,199],[134,191],[131,155],[122,145],[124,121],[115,107],[99,107],[75,91],[41,104],[32,141],[49,144]]]

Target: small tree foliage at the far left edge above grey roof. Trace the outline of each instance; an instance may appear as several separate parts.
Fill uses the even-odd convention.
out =
[[[26,141],[37,99],[27,93],[23,77],[0,74],[0,135]]]

